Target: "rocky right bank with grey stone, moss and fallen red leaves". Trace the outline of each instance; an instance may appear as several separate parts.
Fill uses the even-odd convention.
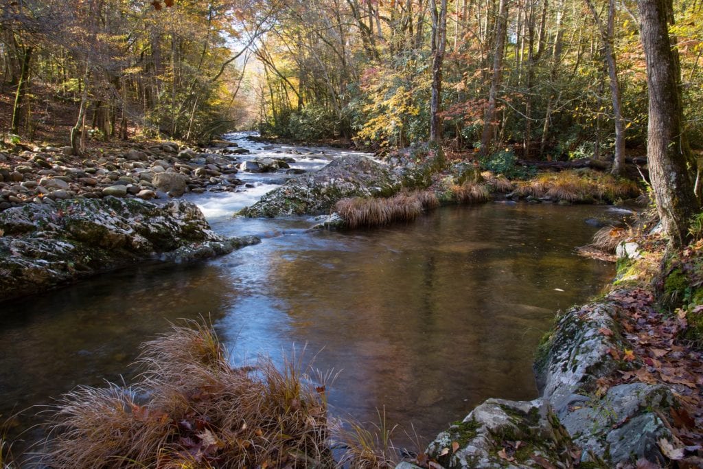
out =
[[[702,248],[670,252],[657,231],[621,243],[607,293],[558,314],[543,338],[540,397],[484,401],[415,463],[702,467]]]

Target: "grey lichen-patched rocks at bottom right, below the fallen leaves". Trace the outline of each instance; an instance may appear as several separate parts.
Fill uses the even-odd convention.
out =
[[[660,416],[669,413],[668,387],[628,383],[610,388],[600,379],[626,370],[613,350],[627,347],[614,291],[599,302],[569,309],[557,319],[536,361],[541,397],[516,402],[489,399],[461,423],[442,432],[427,455],[444,468],[550,467],[592,463],[615,467],[647,459],[664,463],[660,439],[672,435]],[[506,454],[515,442],[520,448]],[[501,452],[503,451],[503,452]]]

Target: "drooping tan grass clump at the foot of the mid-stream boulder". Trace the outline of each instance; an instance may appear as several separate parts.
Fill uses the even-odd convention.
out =
[[[335,205],[348,228],[381,226],[394,221],[411,221],[439,206],[432,191],[401,192],[389,198],[344,198]]]

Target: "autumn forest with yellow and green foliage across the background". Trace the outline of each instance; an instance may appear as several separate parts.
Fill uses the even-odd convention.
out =
[[[632,0],[23,0],[2,8],[2,91],[13,108],[4,130],[30,139],[65,105],[75,146],[125,138],[132,127],[185,140],[258,129],[375,148],[441,137],[482,155],[508,148],[525,158],[610,160],[646,141]],[[676,0],[669,30],[693,148],[703,146],[702,14],[700,1]]]

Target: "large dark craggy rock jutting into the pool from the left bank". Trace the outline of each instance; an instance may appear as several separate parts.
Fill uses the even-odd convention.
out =
[[[59,200],[0,213],[0,300],[144,260],[222,255],[258,238],[224,238],[192,203]]]

